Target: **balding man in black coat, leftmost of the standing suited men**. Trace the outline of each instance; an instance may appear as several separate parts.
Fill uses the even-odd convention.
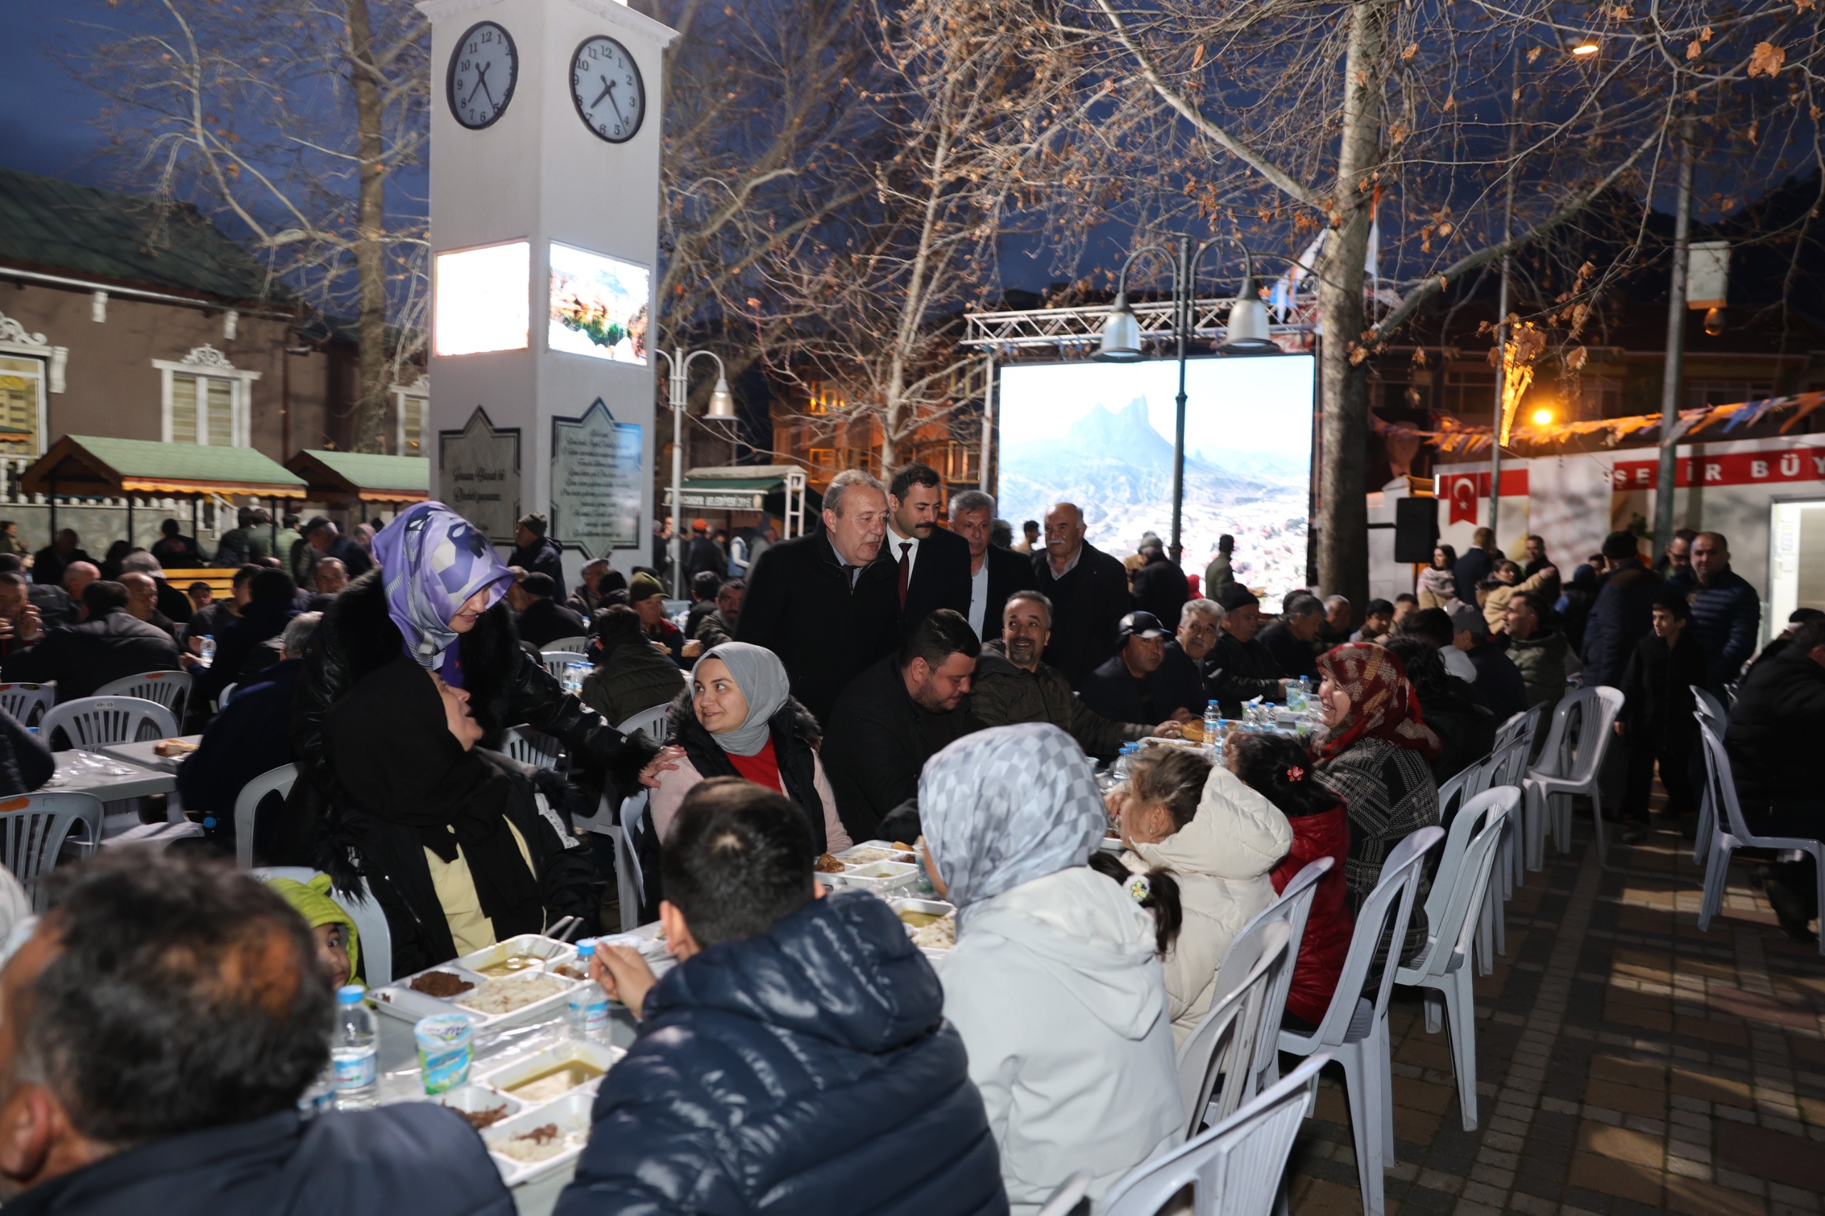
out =
[[[766,646],[792,677],[792,696],[830,721],[836,696],[900,648],[898,568],[880,561],[887,491],[860,469],[823,493],[823,528],[783,540],[754,564],[735,641]]]

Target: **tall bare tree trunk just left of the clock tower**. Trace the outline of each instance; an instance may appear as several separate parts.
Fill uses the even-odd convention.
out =
[[[354,270],[360,314],[360,376],[354,407],[354,449],[387,451],[387,177],[383,166],[380,75],[367,0],[349,4],[349,71],[360,155]]]

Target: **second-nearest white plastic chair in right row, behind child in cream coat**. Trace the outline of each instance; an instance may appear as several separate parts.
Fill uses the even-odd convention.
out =
[[[1179,1044],[1179,1095],[1184,1099],[1186,1139],[1197,1136],[1206,1119],[1221,1123],[1236,1114],[1248,1097],[1259,1035],[1265,1032],[1276,1043],[1279,1039],[1279,1012],[1274,1013],[1274,1024],[1263,1022],[1274,980],[1281,971],[1292,970],[1287,937],[1287,922],[1272,920],[1252,938],[1232,944],[1223,959],[1223,970],[1245,971],[1241,982],[1212,997],[1210,1012]]]

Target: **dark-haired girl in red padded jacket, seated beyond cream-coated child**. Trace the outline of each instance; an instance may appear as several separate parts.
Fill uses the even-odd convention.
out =
[[[1312,893],[1312,911],[1305,920],[1305,937],[1299,938],[1281,1021],[1288,1030],[1310,1033],[1330,1008],[1343,957],[1350,951],[1350,935],[1356,931],[1343,880],[1350,823],[1338,796],[1312,778],[1312,761],[1296,739],[1279,734],[1234,734],[1225,763],[1252,791],[1279,807],[1292,825],[1292,851],[1268,875],[1276,895],[1285,893],[1287,884],[1318,858],[1332,860],[1330,873],[1318,880]]]

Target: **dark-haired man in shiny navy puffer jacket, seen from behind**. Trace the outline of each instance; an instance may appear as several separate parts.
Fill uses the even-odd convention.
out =
[[[995,1139],[944,990],[885,902],[829,898],[805,818],[719,778],[679,807],[653,980],[604,948],[641,1019],[602,1079],[558,1216],[1004,1216]]]

